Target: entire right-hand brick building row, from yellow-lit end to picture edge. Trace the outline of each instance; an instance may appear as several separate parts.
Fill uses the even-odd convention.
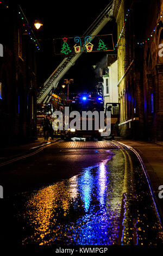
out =
[[[163,141],[162,42],[163,1],[114,0],[117,22],[120,134]],[[161,49],[160,49],[161,50]]]

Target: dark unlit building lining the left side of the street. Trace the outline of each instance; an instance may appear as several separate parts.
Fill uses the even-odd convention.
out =
[[[37,39],[18,5],[0,4],[1,146],[36,138]]]

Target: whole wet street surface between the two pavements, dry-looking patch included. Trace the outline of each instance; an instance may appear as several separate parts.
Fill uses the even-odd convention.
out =
[[[55,143],[1,167],[4,240],[10,234],[23,245],[162,245],[159,215],[133,151],[83,143]]]

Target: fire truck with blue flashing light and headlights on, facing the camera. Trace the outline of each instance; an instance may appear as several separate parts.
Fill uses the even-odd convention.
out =
[[[78,127],[71,127],[71,122],[73,117],[68,118],[69,129],[64,130],[62,133],[62,138],[70,140],[96,140],[101,141],[102,132],[106,130],[101,127],[100,115],[101,112],[104,114],[104,124],[106,124],[106,111],[110,111],[111,114],[111,124],[109,135],[114,137],[117,135],[118,123],[120,121],[120,104],[119,103],[106,103],[104,112],[104,103],[102,96],[96,95],[96,97],[91,97],[91,95],[79,95],[74,97],[73,100],[65,102],[65,107],[69,107],[70,113],[77,112],[80,114],[78,118]],[[85,114],[83,115],[83,113]],[[96,114],[95,114],[96,113]],[[80,120],[79,120],[80,119]],[[96,124],[97,127],[96,127]],[[84,123],[84,126],[83,126]],[[108,137],[107,133],[106,136]]]

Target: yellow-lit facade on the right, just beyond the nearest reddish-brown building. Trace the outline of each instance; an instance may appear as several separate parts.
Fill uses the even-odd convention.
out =
[[[117,22],[118,101],[120,102],[120,135],[143,138],[143,56],[135,47],[135,22],[138,3],[114,1],[113,16]],[[137,1],[135,1],[137,2]],[[137,4],[137,6],[136,6]],[[137,19],[137,18],[136,18]]]

